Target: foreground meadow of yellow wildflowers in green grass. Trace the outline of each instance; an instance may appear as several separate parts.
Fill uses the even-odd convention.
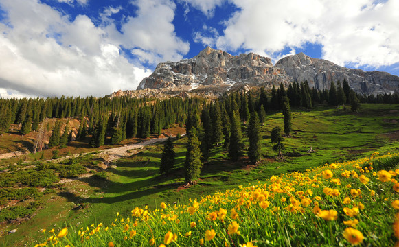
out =
[[[271,176],[190,200],[132,205],[36,246],[399,246],[399,153]]]

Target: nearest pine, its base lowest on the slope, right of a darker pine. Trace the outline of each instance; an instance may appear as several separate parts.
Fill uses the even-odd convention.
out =
[[[200,178],[201,168],[203,166],[201,156],[200,141],[196,134],[196,128],[191,128],[184,162],[185,183],[192,184]]]

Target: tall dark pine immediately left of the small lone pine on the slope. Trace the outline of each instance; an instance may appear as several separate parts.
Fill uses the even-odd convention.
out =
[[[256,112],[253,112],[249,118],[247,134],[249,138],[249,161],[255,164],[260,160],[260,126]]]

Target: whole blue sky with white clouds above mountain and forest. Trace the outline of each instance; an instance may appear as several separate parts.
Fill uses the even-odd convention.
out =
[[[398,0],[0,0],[0,97],[136,89],[207,45],[399,75]]]

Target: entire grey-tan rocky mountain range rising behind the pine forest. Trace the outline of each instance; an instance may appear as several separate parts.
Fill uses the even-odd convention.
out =
[[[399,93],[399,77],[385,72],[347,69],[327,60],[310,58],[303,53],[287,56],[275,65],[258,54],[232,56],[206,47],[197,56],[179,62],[162,62],[144,78],[140,89],[188,91],[220,94],[242,87],[265,86],[271,89],[283,83],[308,81],[310,88],[330,89],[330,83],[347,80],[357,93]]]

